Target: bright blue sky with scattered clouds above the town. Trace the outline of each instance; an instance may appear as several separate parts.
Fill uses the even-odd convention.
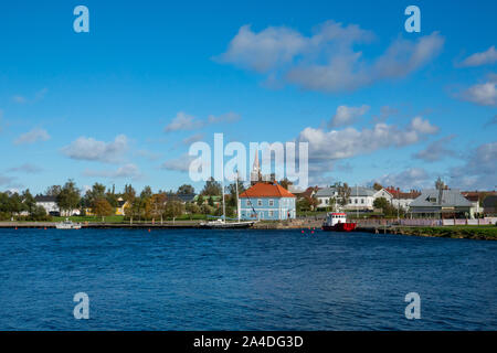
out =
[[[176,189],[214,132],[307,141],[313,184],[497,188],[495,1],[1,7],[0,190]]]

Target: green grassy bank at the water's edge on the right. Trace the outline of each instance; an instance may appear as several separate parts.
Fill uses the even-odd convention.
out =
[[[433,236],[458,239],[497,240],[497,226],[494,225],[456,225],[440,227],[395,227],[401,234]]]

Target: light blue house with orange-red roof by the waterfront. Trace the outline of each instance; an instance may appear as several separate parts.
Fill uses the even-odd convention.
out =
[[[243,220],[288,220],[296,216],[296,196],[278,183],[256,183],[240,194]]]

